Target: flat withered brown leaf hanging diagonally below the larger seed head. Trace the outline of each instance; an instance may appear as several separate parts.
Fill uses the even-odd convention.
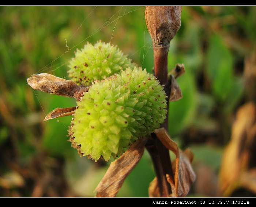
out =
[[[106,174],[96,187],[95,197],[113,198],[122,187],[125,178],[138,164],[144,153],[148,138],[137,140],[117,160],[111,162]]]

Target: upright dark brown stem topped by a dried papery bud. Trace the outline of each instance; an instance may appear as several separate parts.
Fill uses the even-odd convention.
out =
[[[153,41],[154,75],[161,84],[165,85],[164,90],[167,96],[170,95],[170,85],[167,77],[167,56],[170,41],[180,28],[181,10],[181,6],[146,6],[145,11],[147,28]],[[168,110],[169,99],[166,99]],[[161,127],[168,131],[168,114],[166,117]],[[152,139],[148,141],[146,147],[154,163],[159,195],[161,197],[169,197],[172,194],[172,189],[166,179],[166,174],[174,177],[169,150],[155,134],[152,134]]]

